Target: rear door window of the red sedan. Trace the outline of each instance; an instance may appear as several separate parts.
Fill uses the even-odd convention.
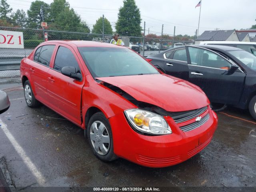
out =
[[[42,46],[40,53],[38,54],[37,61],[43,65],[50,66],[50,60],[52,58],[52,53],[53,53],[54,47],[55,47],[55,45]],[[36,56],[37,55],[35,55],[35,57]]]

